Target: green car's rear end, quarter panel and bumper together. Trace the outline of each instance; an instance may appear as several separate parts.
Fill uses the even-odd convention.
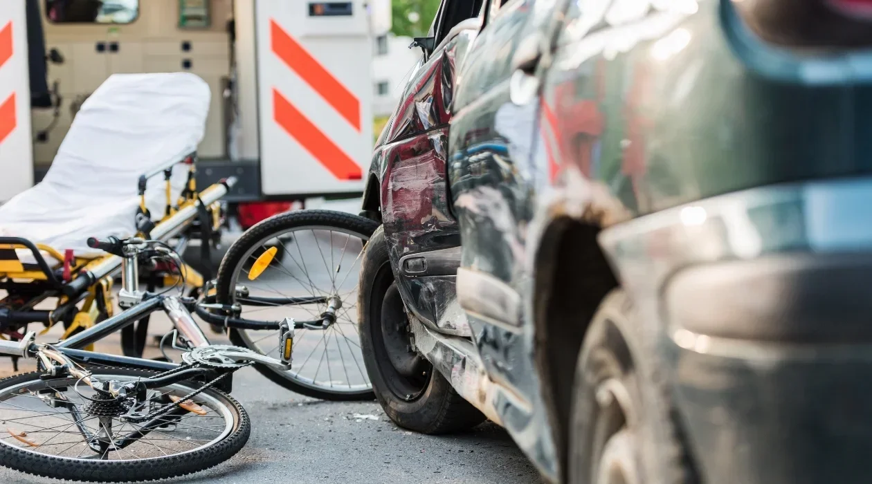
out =
[[[872,127],[864,74],[872,58],[773,49],[731,24],[738,18],[729,1],[675,2],[623,25],[585,18],[577,4],[544,76],[549,176],[536,187],[528,254],[555,219],[604,228],[601,245],[621,286],[661,335],[664,377],[702,481],[868,475],[852,449],[868,445],[869,421],[852,414],[846,424],[845,413],[825,410],[867,397],[841,387],[855,376],[815,369],[834,372],[841,361],[843,375],[862,373],[865,350],[812,357],[773,341],[694,334],[664,294],[688,268],[727,260],[768,267],[803,252],[822,267],[830,255],[866,260],[872,235],[860,220],[872,207],[858,186],[869,181],[839,178],[872,170],[872,137],[863,134]],[[755,296],[746,304],[780,300]],[[827,401],[785,398],[816,392]]]

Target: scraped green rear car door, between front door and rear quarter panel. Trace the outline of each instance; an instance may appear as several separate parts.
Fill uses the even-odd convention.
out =
[[[452,210],[460,225],[460,306],[491,378],[527,400],[538,392],[523,332],[531,285],[526,231],[532,219],[538,84],[551,0],[494,0],[458,74],[449,141]],[[507,412],[510,412],[508,410]],[[523,413],[521,411],[520,413]],[[513,434],[527,423],[507,419]],[[525,449],[528,450],[528,449]]]

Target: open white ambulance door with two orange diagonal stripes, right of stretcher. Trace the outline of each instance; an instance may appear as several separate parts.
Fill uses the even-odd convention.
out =
[[[318,16],[306,2],[257,1],[257,115],[265,196],[363,191],[373,141],[373,38],[367,4],[351,0],[342,15]]]

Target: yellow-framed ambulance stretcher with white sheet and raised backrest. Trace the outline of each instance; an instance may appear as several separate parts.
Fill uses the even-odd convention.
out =
[[[121,258],[89,247],[90,237],[139,235],[177,249],[215,239],[219,199],[235,180],[196,187],[210,97],[189,73],[116,74],[88,97],[44,179],[0,205],[0,338],[20,339],[31,323],[63,323],[66,338],[112,316]],[[189,266],[137,277],[203,286]]]

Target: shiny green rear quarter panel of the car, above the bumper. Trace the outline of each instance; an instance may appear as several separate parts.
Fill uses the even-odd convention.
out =
[[[850,75],[827,86],[754,71],[725,34],[719,2],[675,2],[594,31],[577,4],[544,89],[552,170],[576,165],[631,216],[872,171],[872,138],[861,134],[872,91]]]

